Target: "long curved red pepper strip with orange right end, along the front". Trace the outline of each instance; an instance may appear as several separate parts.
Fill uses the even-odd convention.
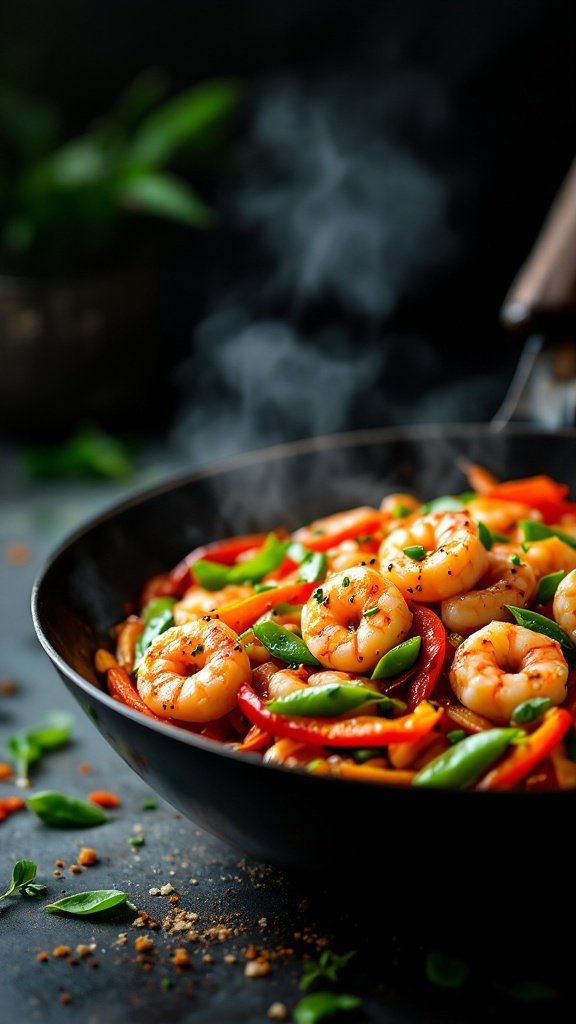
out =
[[[238,693],[238,705],[249,722],[274,736],[288,736],[299,743],[323,746],[386,746],[419,739],[434,729],[444,715],[442,708],[424,702],[401,718],[357,716],[338,721],[328,718],[287,718],[268,711],[248,683]]]

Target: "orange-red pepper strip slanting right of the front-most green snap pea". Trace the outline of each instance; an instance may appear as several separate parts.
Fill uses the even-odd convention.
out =
[[[566,708],[550,708],[542,723],[515,745],[499,764],[477,782],[477,790],[510,790],[548,756],[572,725]]]

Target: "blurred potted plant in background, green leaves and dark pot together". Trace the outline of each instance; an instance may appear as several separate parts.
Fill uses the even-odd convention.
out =
[[[52,105],[0,85],[2,431],[125,426],[138,410],[146,419],[155,389],[162,408],[155,224],[214,224],[202,190],[221,171],[238,102],[231,80],[174,96],[146,72],[66,138]]]

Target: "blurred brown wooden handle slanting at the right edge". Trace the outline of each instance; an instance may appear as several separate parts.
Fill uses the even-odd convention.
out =
[[[500,323],[525,336],[576,336],[576,158],[508,290]]]

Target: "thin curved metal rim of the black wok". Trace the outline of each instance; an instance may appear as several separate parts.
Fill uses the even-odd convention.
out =
[[[84,519],[78,526],[73,530],[69,531],[64,539],[59,542],[57,546],[48,554],[48,556],[42,562],[40,568],[38,569],[31,591],[31,612],[32,622],[36,637],[42,646],[44,652],[47,654],[48,658],[60,675],[60,677],[66,677],[76,688],[83,691],[88,697],[101,702],[106,708],[115,714],[119,714],[124,718],[129,719],[136,725],[141,726],[143,729],[150,728],[153,732],[158,732],[168,739],[177,739],[178,742],[182,742],[188,746],[197,748],[202,752],[217,755],[218,757],[223,757],[227,760],[233,761],[234,763],[250,764],[254,769],[259,769],[262,771],[269,771],[272,769],[277,773],[280,772],[282,775],[294,774],[300,775],[301,777],[306,777],[314,779],[313,784],[328,783],[330,785],[337,784],[340,787],[344,787],[348,791],[357,791],[358,785],[362,785],[363,788],[368,787],[372,792],[382,792],[384,790],[386,793],[395,792],[397,794],[413,792],[410,785],[384,785],[381,782],[375,782],[369,779],[347,779],[338,778],[333,775],[314,775],[307,772],[304,768],[290,767],[286,768],[284,765],[277,765],[274,763],[263,764],[261,758],[256,754],[251,752],[238,752],[227,746],[224,743],[219,742],[215,739],[209,739],[206,736],[201,736],[194,732],[188,732],[181,729],[177,725],[171,725],[169,723],[157,722],[154,719],[149,719],[145,715],[134,709],[129,708],[127,705],[122,703],[120,700],[116,700],[105,690],[99,689],[89,680],[85,679],[80,675],[69,663],[55,650],[52,644],[49,642],[44,627],[42,625],[42,612],[41,612],[41,602],[42,602],[42,592],[46,585],[46,578],[48,577],[52,567],[56,562],[70,551],[84,536],[90,534],[92,530],[98,528],[102,523],[115,519],[117,516],[122,515],[124,512],[129,511],[129,509],[136,506],[145,505],[147,502],[152,501],[164,494],[169,494],[171,492],[177,490],[179,487],[188,486],[191,483],[203,479],[210,479],[211,477],[219,476],[220,474],[241,469],[243,467],[257,465],[259,463],[265,463],[270,461],[277,461],[280,459],[287,459],[290,457],[295,457],[298,455],[307,455],[315,452],[323,451],[335,451],[337,449],[343,447],[354,447],[361,444],[377,444],[377,443],[390,443],[400,440],[448,440],[451,435],[457,433],[458,438],[466,437],[478,437],[478,436],[501,436],[501,437],[519,437],[519,436],[534,436],[534,437],[566,437],[568,439],[573,439],[576,441],[576,427],[567,427],[562,430],[545,430],[541,427],[526,424],[526,425],[512,425],[507,426],[505,429],[497,429],[493,427],[490,423],[446,423],[446,424],[410,424],[405,426],[393,426],[393,427],[375,427],[366,430],[351,430],[343,431],[340,433],[333,434],[322,434],[319,436],[306,437],[292,441],[284,441],[279,444],[266,445],[247,452],[238,453],[232,456],[223,457],[222,459],[214,460],[204,466],[201,466],[195,470],[189,472],[182,472],[181,470],[172,474],[168,474],[162,481],[155,484],[143,484],[136,486],[132,493],[128,494],[127,497],[116,500],[112,502],[109,506],[101,509],[95,515],[88,516]],[[74,695],[74,694],[73,694]],[[427,791],[421,788],[418,790],[419,794],[427,792],[428,794],[437,794],[437,787],[430,787]],[[552,791],[549,793],[526,793],[520,790],[502,790],[502,791],[462,791],[462,790],[450,790],[442,791],[446,796],[450,796],[452,799],[465,799],[466,796],[474,792],[475,799],[484,800],[533,800],[534,797],[537,799],[543,799],[544,797],[550,801],[551,799],[564,799],[566,800],[567,795],[570,793],[569,790],[565,791]],[[420,798],[421,799],[421,798]],[[433,797],[434,799],[434,797]],[[438,799],[438,797],[437,797]]]

